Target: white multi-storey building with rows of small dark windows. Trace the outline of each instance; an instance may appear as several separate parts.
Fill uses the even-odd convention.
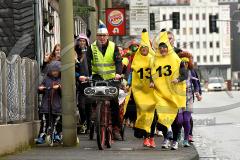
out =
[[[222,76],[231,79],[231,36],[229,5],[218,5],[217,1],[202,0],[203,3],[177,6],[151,6],[150,13],[155,13],[156,30],[151,37],[162,28],[173,31],[175,46],[191,52],[194,61],[201,71],[202,79]],[[180,29],[172,30],[171,14],[180,12]],[[209,15],[218,15],[218,33],[209,32]]]

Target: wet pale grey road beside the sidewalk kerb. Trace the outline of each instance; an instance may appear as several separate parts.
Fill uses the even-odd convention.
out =
[[[200,159],[240,160],[240,92],[206,92],[194,108]]]

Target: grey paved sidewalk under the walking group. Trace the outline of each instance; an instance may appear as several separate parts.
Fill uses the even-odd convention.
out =
[[[162,138],[156,138],[157,148],[142,147],[142,140],[126,130],[126,141],[115,142],[111,149],[99,151],[96,141],[80,136],[80,145],[75,148],[38,146],[23,153],[0,158],[0,160],[198,160],[195,147],[179,147],[178,151],[163,150]]]

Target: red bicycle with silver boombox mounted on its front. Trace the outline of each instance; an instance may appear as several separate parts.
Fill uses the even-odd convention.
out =
[[[90,124],[90,139],[94,137],[94,130],[97,134],[97,144],[99,150],[104,150],[105,147],[111,148],[112,144],[112,116],[110,101],[117,99],[118,88],[110,84],[118,84],[119,80],[96,81],[89,80],[91,87],[84,89],[84,94],[87,99],[96,102],[96,111],[92,114]]]

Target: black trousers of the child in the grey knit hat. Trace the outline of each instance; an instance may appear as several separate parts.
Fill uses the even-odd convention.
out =
[[[57,134],[62,132],[62,116],[57,114],[49,113],[40,113],[39,114],[40,122],[40,130],[39,130],[39,137],[43,137],[47,134],[48,128],[53,127],[53,131]],[[52,126],[51,126],[52,124]]]

